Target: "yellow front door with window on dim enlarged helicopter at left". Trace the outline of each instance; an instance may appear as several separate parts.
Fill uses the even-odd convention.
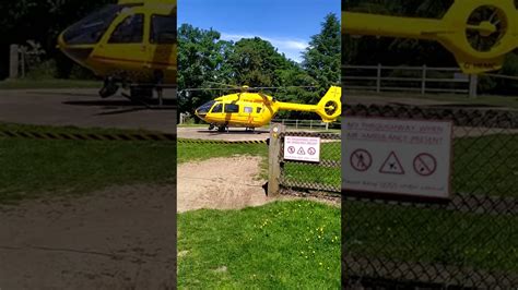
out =
[[[144,14],[122,13],[111,23],[94,57],[117,73],[138,74],[145,67],[148,47],[144,43]]]

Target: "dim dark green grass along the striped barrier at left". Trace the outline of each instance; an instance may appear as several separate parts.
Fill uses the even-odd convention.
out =
[[[1,130],[68,133],[134,133],[0,124]],[[174,182],[170,142],[46,141],[0,137],[0,204],[25,198],[85,194],[109,185]]]

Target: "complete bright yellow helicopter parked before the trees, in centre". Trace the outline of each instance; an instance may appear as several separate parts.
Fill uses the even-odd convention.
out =
[[[323,122],[333,122],[342,113],[342,88],[331,86],[318,105],[304,105],[278,101],[263,93],[252,93],[254,88],[243,86],[240,93],[231,94],[211,100],[196,110],[196,116],[209,123],[209,130],[217,128],[220,132],[228,126],[255,130],[270,123],[282,110],[315,112]]]

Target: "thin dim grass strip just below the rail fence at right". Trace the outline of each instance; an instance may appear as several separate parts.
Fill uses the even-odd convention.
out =
[[[458,94],[415,94],[415,93],[374,93],[374,92],[357,92],[351,90],[348,93],[353,99],[357,99],[355,96],[373,96],[378,98],[407,98],[407,99],[427,99],[427,100],[440,100],[455,102],[461,106],[478,105],[478,106],[493,106],[493,107],[506,107],[518,109],[518,96],[491,96],[482,95],[476,98],[469,98],[467,95]]]

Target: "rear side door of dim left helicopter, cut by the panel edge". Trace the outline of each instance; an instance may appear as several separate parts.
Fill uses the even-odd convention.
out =
[[[152,14],[150,20],[150,67],[161,81],[176,81],[176,13]],[[162,78],[162,80],[161,80]]]

